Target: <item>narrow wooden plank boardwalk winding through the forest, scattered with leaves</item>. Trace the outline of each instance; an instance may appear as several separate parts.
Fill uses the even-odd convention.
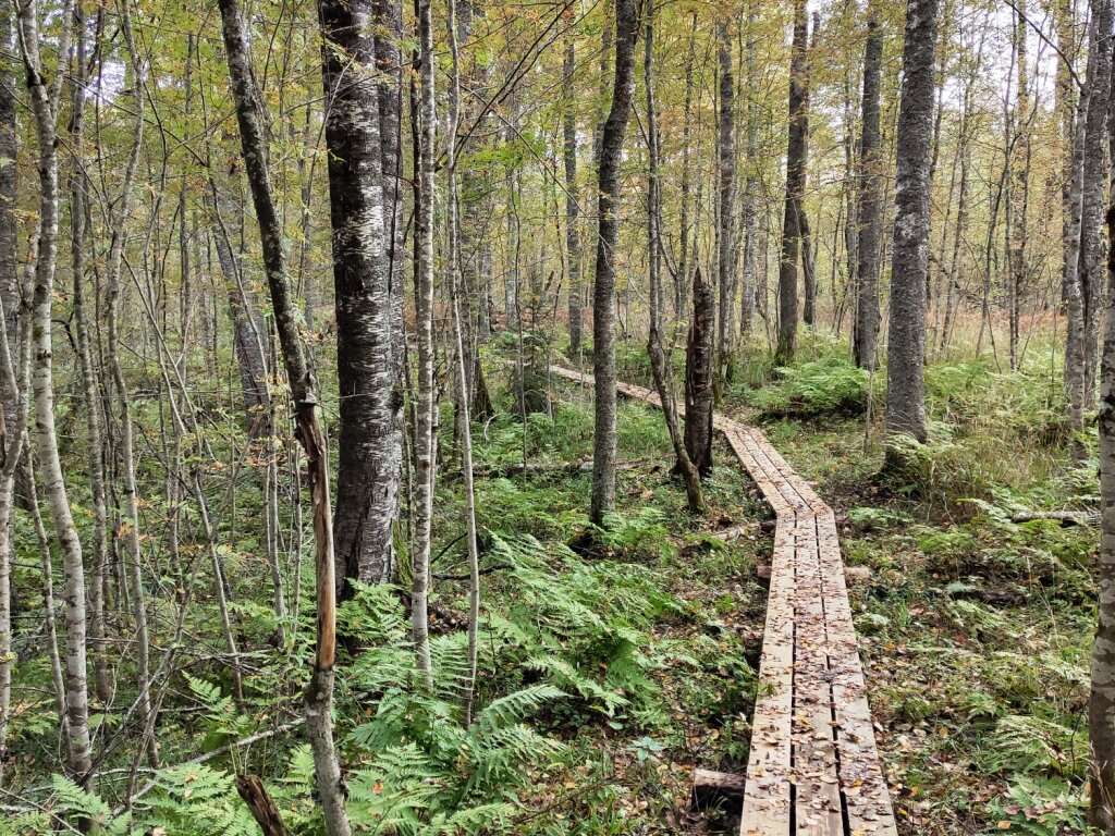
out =
[[[591,375],[569,369],[551,367],[551,373],[592,383]],[[649,389],[617,388],[661,407]],[[760,430],[719,415],[714,426],[777,515],[739,832],[896,835],[833,511]]]

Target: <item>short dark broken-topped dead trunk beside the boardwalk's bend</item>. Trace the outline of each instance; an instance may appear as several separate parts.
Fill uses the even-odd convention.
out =
[[[694,271],[694,317],[686,343],[686,453],[697,473],[712,472],[712,288]]]

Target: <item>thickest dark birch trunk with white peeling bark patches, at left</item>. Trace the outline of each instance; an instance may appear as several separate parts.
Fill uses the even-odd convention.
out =
[[[403,382],[384,218],[380,96],[371,71],[371,0],[318,3],[327,100],[329,205],[337,305],[340,453],[334,517],[338,591],[396,575],[391,526],[403,467]],[[387,97],[390,98],[390,97]],[[396,128],[397,129],[397,128]],[[394,165],[397,152],[388,155]],[[394,186],[386,189],[394,195]],[[394,204],[394,200],[391,201]]]

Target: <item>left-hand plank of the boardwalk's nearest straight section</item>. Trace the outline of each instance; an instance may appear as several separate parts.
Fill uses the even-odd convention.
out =
[[[762,692],[752,718],[752,747],[744,789],[744,836],[788,836],[794,693],[793,517],[778,521],[767,599]]]

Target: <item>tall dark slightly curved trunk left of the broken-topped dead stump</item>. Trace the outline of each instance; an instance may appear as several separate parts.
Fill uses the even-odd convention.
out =
[[[595,286],[593,288],[593,373],[595,432],[592,459],[592,506],[595,525],[615,508],[615,264],[619,241],[620,161],[634,95],[634,0],[615,0],[615,84],[612,106],[600,138],[600,198],[597,216]]]

